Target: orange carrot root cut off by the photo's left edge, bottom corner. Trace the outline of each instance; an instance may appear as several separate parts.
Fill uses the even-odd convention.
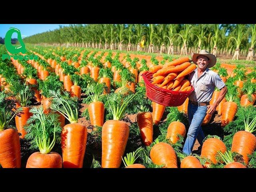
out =
[[[0,164],[3,168],[20,168],[20,138],[17,130],[0,131]]]

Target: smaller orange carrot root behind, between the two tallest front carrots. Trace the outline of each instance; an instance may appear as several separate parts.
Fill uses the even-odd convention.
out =
[[[100,101],[91,102],[88,106],[90,121],[93,126],[104,124],[104,104]]]

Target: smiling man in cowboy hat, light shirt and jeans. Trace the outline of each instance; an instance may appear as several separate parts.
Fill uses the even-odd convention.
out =
[[[209,69],[216,64],[216,57],[213,54],[206,50],[201,50],[199,54],[192,53],[191,58],[194,64],[198,65],[198,68],[189,74],[188,77],[188,80],[194,87],[194,91],[188,96],[188,122],[190,126],[182,150],[188,155],[192,152],[196,138],[200,148],[202,148],[204,133],[201,124],[206,116],[206,112],[208,114],[214,113],[227,92],[227,87],[220,76]],[[209,102],[212,99],[215,87],[220,89],[220,94],[216,102],[210,105]]]

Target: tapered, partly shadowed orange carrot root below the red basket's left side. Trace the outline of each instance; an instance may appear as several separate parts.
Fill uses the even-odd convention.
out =
[[[150,112],[141,112],[137,115],[136,121],[140,129],[142,142],[150,146],[153,142],[153,118]]]

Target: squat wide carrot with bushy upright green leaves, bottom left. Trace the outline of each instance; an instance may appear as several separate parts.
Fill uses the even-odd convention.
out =
[[[26,138],[34,141],[32,145],[38,148],[40,152],[34,152],[30,155],[26,168],[62,168],[60,154],[51,152],[56,138],[60,138],[61,132],[57,115],[51,114],[49,116],[45,114],[42,106],[39,108],[33,107],[30,112],[33,116],[28,120],[28,125],[25,128],[28,132]],[[51,138],[53,139],[50,142]]]

